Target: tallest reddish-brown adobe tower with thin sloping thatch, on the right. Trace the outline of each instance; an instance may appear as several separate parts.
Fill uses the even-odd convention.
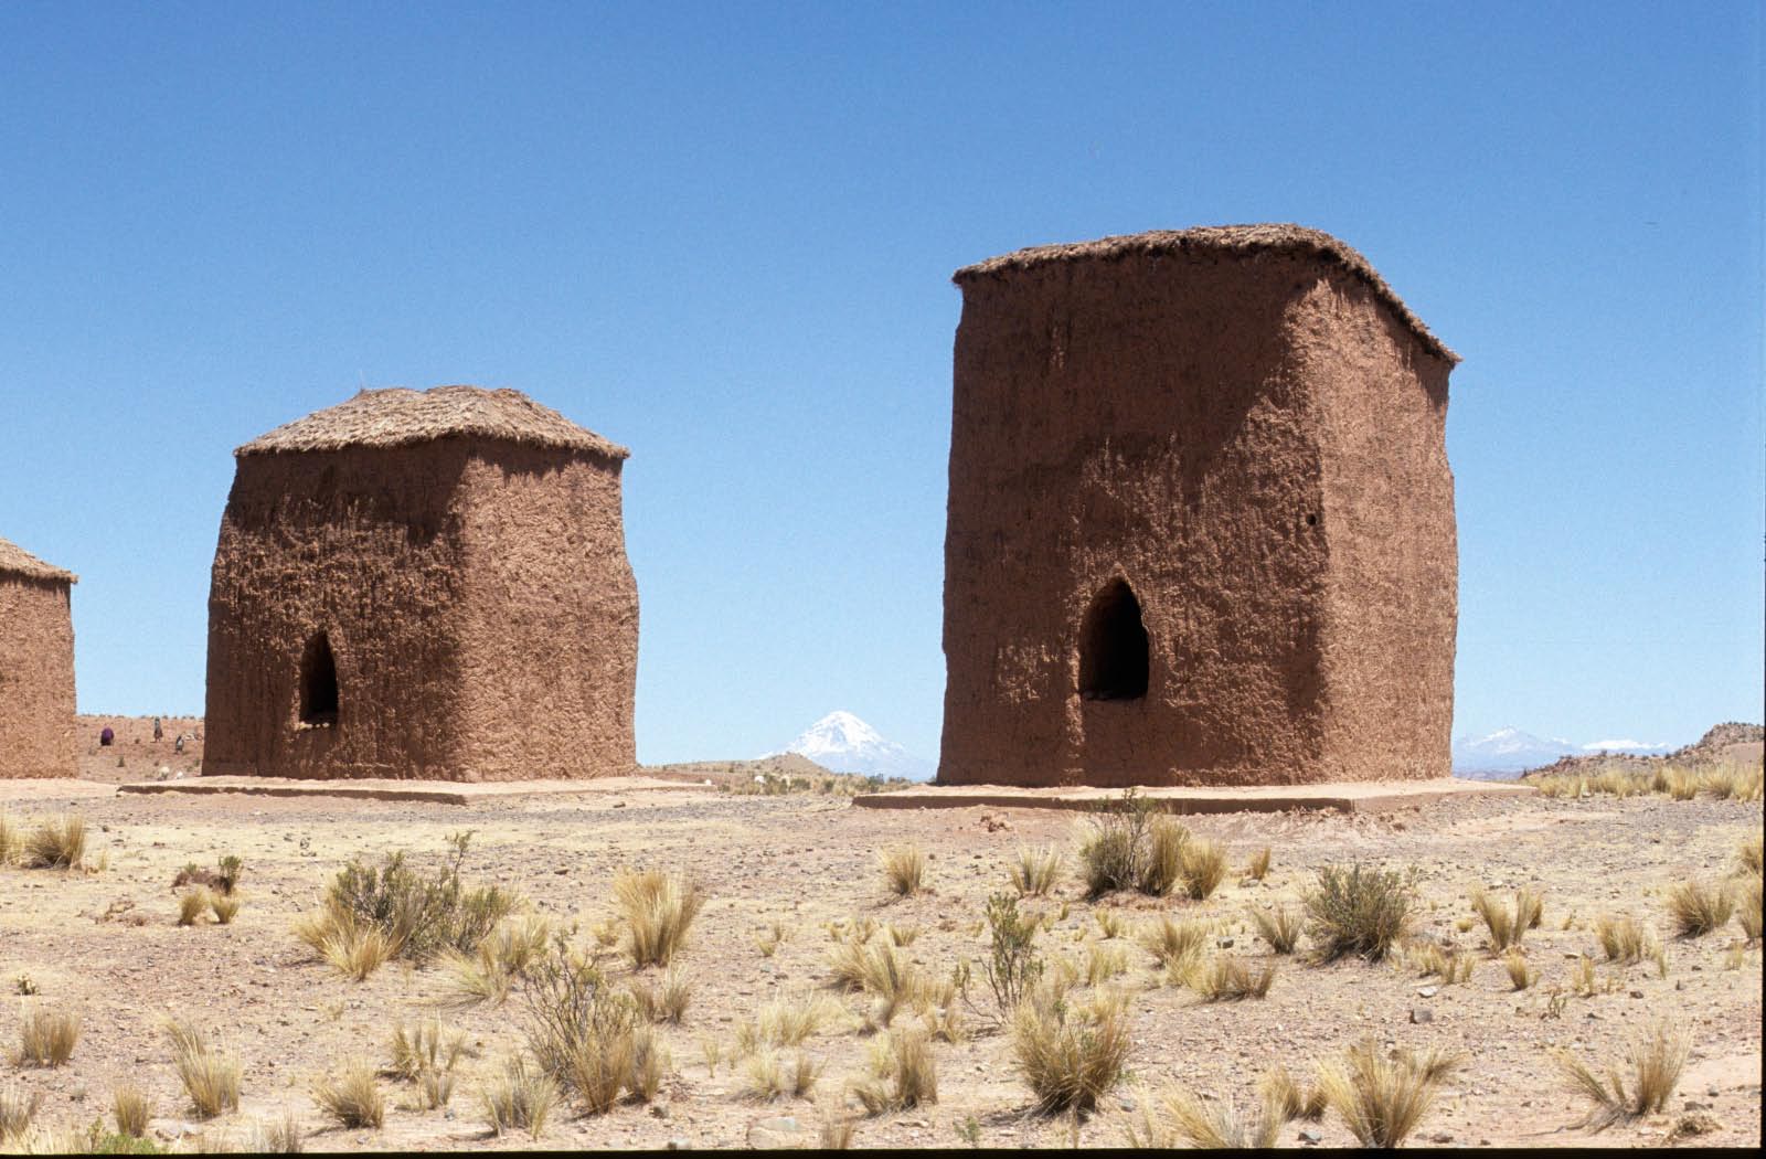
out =
[[[1459,360],[1337,239],[957,270],[945,784],[1450,774]]]

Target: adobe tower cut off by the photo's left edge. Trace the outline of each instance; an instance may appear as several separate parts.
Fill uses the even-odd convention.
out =
[[[0,539],[0,779],[72,777],[78,576]]]

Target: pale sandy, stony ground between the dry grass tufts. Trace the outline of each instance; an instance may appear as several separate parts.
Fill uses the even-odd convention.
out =
[[[168,721],[168,753],[173,735]],[[152,742],[136,746],[134,737],[115,751],[124,754],[127,772],[145,776],[152,767],[157,776],[164,763]],[[90,760],[92,776],[115,774],[113,758],[95,751]],[[710,901],[680,959],[696,989],[685,1023],[662,1030],[673,1062],[659,1101],[620,1106],[600,1118],[560,1113],[539,1147],[743,1147],[751,1138],[781,1140],[751,1134],[756,1122],[789,1118],[812,1141],[825,1115],[857,1113],[846,1087],[865,1065],[860,998],[842,998],[849,1023],[809,1044],[825,1064],[814,1101],[751,1102],[740,1065],[724,1062],[713,1072],[701,1051],[701,1041],[719,1041],[728,1055],[736,1021],[770,996],[834,993],[826,989],[825,922],[871,915],[917,926],[920,936],[908,952],[940,975],[961,958],[978,963],[985,954],[982,905],[1005,887],[1014,848],[1072,848],[1083,823],[1053,811],[874,811],[818,793],[738,797],[710,788],[500,797],[466,807],[325,797],[109,797],[92,795],[95,790],[102,792],[67,781],[0,783],[0,806],[14,823],[78,809],[92,825],[94,850],[109,859],[99,873],[0,869],[0,986],[11,993],[14,979],[28,973],[41,989],[35,1002],[78,1011],[85,1025],[67,1067],[7,1067],[0,1085],[44,1092],[39,1122],[83,1125],[108,1115],[113,1087],[138,1083],[159,1115],[159,1138],[184,1136],[184,1147],[194,1145],[192,1131],[210,1145],[217,1138],[245,1143],[254,1122],[275,1118],[284,1108],[313,1131],[307,1147],[316,1150],[533,1145],[525,1134],[489,1138],[477,1110],[482,1076],[519,1048],[519,1000],[503,1009],[445,1014],[468,1032],[480,1055],[461,1064],[450,1110],[406,1110],[408,1088],[394,1090],[392,1083],[392,1110],[378,1131],[328,1125],[314,1108],[307,1092],[320,1074],[346,1057],[385,1062],[392,1026],[429,1014],[447,996],[445,979],[434,970],[389,966],[360,984],[344,981],[295,940],[293,919],[314,906],[325,882],[350,857],[408,848],[431,864],[447,834],[472,829],[468,878],[517,889],[540,913],[583,919],[585,928],[613,915],[611,880],[618,869],[696,875]],[[1220,814],[1187,823],[1224,839],[1234,866],[1259,846],[1273,846],[1268,880],[1257,885],[1229,878],[1206,903],[1118,898],[1097,905],[1083,901],[1068,880],[1049,903],[1054,910],[1065,905],[1067,917],[1042,938],[1044,949],[1079,958],[1079,938],[1097,936],[1093,910],[1114,906],[1132,920],[1158,912],[1217,915],[1234,938],[1234,952],[1266,961],[1264,947],[1245,931],[1245,908],[1294,898],[1324,862],[1362,859],[1416,866],[1425,899],[1422,929],[1460,947],[1480,945],[1478,929],[1455,929],[1455,920],[1471,913],[1466,894],[1475,882],[1542,887],[1545,920],[1526,945],[1543,977],[1533,989],[1513,993],[1503,968],[1487,956],[1469,982],[1455,986],[1438,986],[1393,965],[1305,966],[1275,959],[1279,975],[1266,1000],[1208,1005],[1190,991],[1162,986],[1151,958],[1136,947],[1130,972],[1118,979],[1132,993],[1132,1081],[1079,1125],[1081,1145],[1121,1145],[1123,1110],[1169,1083],[1250,1106],[1256,1078],[1268,1064],[1286,1062],[1305,1074],[1316,1060],[1363,1035],[1415,1048],[1445,1046],[1468,1057],[1413,1143],[1649,1145],[1662,1141],[1692,1104],[1722,1125],[1699,1143],[1759,1140],[1761,951],[1748,947],[1740,966],[1731,968],[1736,926],[1694,942],[1669,942],[1665,979],[1648,963],[1602,965],[1611,993],[1570,996],[1559,1018],[1549,1016],[1549,995],[1568,989],[1574,956],[1595,951],[1593,919],[1628,910],[1667,933],[1665,887],[1688,876],[1725,875],[1736,845],[1761,832],[1759,802],[1445,800],[1383,816]],[[931,892],[890,901],[874,857],[909,839],[931,857]],[[245,906],[237,922],[175,926],[173,876],[185,862],[214,864],[223,853],[245,860]],[[774,919],[788,926],[789,936],[768,959],[754,935]],[[1570,928],[1563,929],[1566,919]],[[985,986],[977,995],[982,1007]],[[1413,1023],[1416,1011],[1427,1011],[1430,1021]],[[242,1060],[244,1106],[237,1115],[208,1124],[189,1117],[157,1030],[168,1012],[205,1026]],[[1671,1113],[1604,1134],[1575,1131],[1582,1110],[1561,1088],[1547,1051],[1563,1046],[1595,1062],[1619,1062],[1626,1037],[1658,1014],[1674,1016],[1694,1042]],[[0,1030],[0,1042],[16,1046],[16,1032]],[[1072,1141],[1068,1120],[1033,1113],[1007,1035],[982,1028],[968,1042],[938,1044],[936,1058],[940,1102],[862,1120],[857,1147],[954,1147],[955,1127],[970,1117],[985,1147]],[[1284,1129],[1282,1145],[1300,1147],[1302,1127]],[[1309,1129],[1323,1145],[1351,1143],[1335,1117]]]

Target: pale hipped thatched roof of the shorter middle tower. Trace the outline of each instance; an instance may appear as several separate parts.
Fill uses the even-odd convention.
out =
[[[484,387],[360,390],[348,403],[279,426],[233,454],[406,447],[438,438],[489,438],[530,447],[592,451],[609,459],[630,456],[625,447],[579,428],[521,390]]]

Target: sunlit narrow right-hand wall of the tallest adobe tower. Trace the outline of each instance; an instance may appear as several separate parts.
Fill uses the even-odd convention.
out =
[[[1452,364],[1355,279],[1296,325],[1323,451],[1324,760],[1333,779],[1452,776],[1459,546],[1446,459]]]

